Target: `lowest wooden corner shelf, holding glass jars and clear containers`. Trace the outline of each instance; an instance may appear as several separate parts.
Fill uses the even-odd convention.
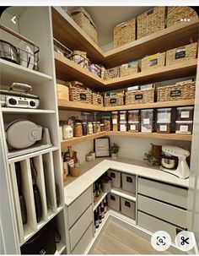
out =
[[[176,133],[130,133],[130,132],[101,132],[86,135],[83,137],[74,137],[73,139],[66,139],[61,142],[61,148],[64,149],[73,144],[83,143],[90,139],[97,139],[104,136],[124,136],[132,138],[149,138],[149,139],[167,139],[167,140],[181,140],[191,141],[192,135],[176,134]]]

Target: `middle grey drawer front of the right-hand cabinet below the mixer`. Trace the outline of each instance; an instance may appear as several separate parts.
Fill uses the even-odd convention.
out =
[[[148,199],[140,194],[138,195],[138,210],[142,210],[149,215],[156,216],[176,226],[186,227],[186,210],[181,210],[154,199]]]

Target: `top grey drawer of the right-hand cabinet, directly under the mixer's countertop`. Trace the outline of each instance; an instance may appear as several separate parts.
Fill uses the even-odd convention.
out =
[[[162,182],[155,182],[139,177],[138,193],[146,194],[148,197],[186,208],[188,193],[186,188],[178,188]]]

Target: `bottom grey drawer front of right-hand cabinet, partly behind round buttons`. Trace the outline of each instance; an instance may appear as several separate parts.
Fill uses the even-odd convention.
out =
[[[142,226],[151,232],[166,231],[169,233],[172,242],[175,242],[175,236],[177,234],[176,231],[180,230],[174,225],[171,225],[165,221],[161,221],[153,216],[147,215],[139,210],[137,212],[137,225]]]

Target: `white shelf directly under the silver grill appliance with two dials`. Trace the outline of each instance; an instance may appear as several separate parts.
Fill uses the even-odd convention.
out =
[[[45,109],[27,109],[27,108],[13,108],[2,107],[2,112],[6,114],[54,114],[54,110]]]

